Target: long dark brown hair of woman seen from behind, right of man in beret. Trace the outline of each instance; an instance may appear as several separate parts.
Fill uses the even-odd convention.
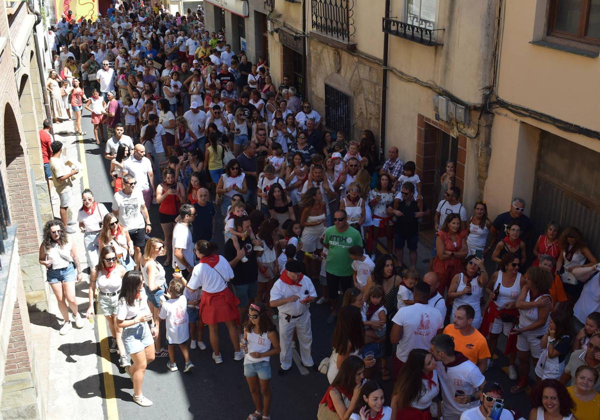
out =
[[[352,305],[340,308],[331,345],[338,355],[346,355],[362,349],[365,345],[365,325],[362,323],[359,308]]]

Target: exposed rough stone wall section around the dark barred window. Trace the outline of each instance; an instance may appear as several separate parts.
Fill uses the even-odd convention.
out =
[[[371,130],[379,138],[381,64],[310,38],[308,50],[308,97],[313,109],[325,116],[327,83],[352,98],[351,139],[359,140],[362,130]]]

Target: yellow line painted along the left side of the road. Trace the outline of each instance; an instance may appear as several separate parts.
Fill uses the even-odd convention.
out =
[[[83,189],[89,188],[88,165],[85,160],[85,146],[83,145],[83,136],[77,136],[79,140],[79,156],[81,159],[82,183]],[[116,406],[115,381],[113,380],[112,368],[110,362],[110,350],[108,331],[106,328],[106,318],[104,316],[96,317],[96,326],[98,328],[98,340],[100,340],[100,361],[104,379],[104,396],[106,401],[106,417],[108,420],[118,420],[119,412]]]

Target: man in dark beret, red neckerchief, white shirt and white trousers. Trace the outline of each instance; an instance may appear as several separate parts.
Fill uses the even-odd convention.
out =
[[[300,347],[300,358],[305,367],[314,365],[310,349],[313,344],[313,332],[310,326],[308,305],[317,300],[313,281],[302,274],[304,264],[298,260],[289,260],[281,277],[271,289],[271,307],[279,308],[279,337],[281,366],[279,374],[284,375],[292,367],[292,340],[296,330]]]

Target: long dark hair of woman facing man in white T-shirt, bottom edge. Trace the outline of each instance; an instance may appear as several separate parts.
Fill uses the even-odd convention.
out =
[[[425,358],[429,352],[424,349],[412,349],[402,365],[398,379],[394,383],[392,395],[398,395],[398,409],[410,406],[412,401],[425,394],[425,386],[421,380]]]

